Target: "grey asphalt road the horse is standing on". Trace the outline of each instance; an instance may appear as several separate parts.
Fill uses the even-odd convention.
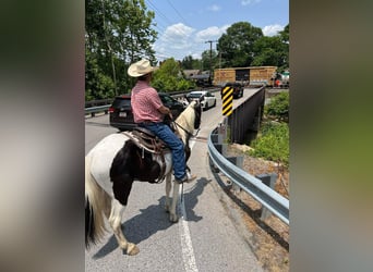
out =
[[[244,98],[253,92],[245,89]],[[140,254],[127,256],[118,248],[112,232],[85,252],[85,271],[262,271],[239,227],[220,201],[208,166],[209,133],[222,122],[221,100],[204,111],[197,139],[191,140],[189,166],[196,182],[184,185],[178,223],[170,223],[164,210],[165,185],[134,183],[124,213],[123,231],[137,244]],[[108,115],[86,119],[85,152],[103,137],[118,131],[108,125]],[[108,230],[110,227],[108,226]]]

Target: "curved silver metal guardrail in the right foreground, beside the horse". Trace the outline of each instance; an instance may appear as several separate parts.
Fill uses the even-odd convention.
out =
[[[210,133],[207,143],[208,156],[215,166],[228,176],[232,183],[238,185],[255,200],[261,202],[263,207],[289,225],[289,200],[263,184],[260,178],[252,176],[242,169],[236,166],[218,152],[216,146],[220,144],[219,138],[221,137],[219,137],[217,131],[218,129],[215,128]]]

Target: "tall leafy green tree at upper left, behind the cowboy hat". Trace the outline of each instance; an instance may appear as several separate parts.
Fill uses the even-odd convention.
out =
[[[94,89],[103,85],[107,85],[103,91],[113,84],[112,94],[127,92],[133,84],[127,75],[129,63],[143,57],[155,60],[154,12],[146,10],[144,0],[86,0],[85,14],[86,86],[100,96],[107,94]]]

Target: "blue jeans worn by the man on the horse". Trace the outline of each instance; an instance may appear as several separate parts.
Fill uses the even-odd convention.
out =
[[[185,153],[184,144],[179,139],[171,128],[164,123],[151,123],[142,124],[141,126],[149,129],[152,133],[157,135],[159,139],[165,141],[165,144],[171,149],[172,152],[172,165],[173,175],[177,180],[184,177],[185,173]]]

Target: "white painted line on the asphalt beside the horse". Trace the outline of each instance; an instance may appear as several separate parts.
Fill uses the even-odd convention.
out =
[[[191,140],[191,150],[194,146],[194,140]],[[182,195],[182,186],[179,188],[179,199],[181,199]],[[182,249],[182,259],[184,262],[184,269],[186,272],[198,272],[198,269],[195,263],[194,250],[192,245],[191,233],[189,231],[188,222],[186,222],[186,212],[184,200],[180,201],[180,210],[181,218],[179,220],[179,232],[181,238],[181,249]]]

